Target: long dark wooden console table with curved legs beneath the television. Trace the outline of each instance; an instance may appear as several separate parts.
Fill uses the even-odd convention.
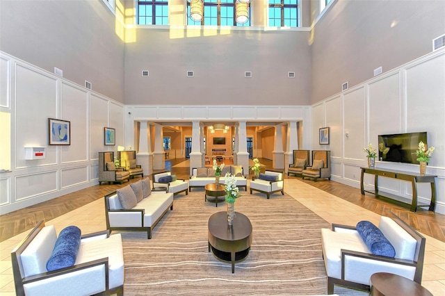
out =
[[[364,190],[363,181],[364,174],[373,174],[374,177],[374,188],[375,190]],[[397,197],[396,195],[384,196],[378,193],[378,176],[385,176],[387,178],[398,179],[402,181],[408,181],[412,184],[412,201],[411,204],[408,202],[403,202],[399,199],[403,199],[403,197]],[[430,174],[425,174],[421,176],[420,174],[412,173],[412,172],[401,172],[396,170],[378,170],[370,167],[362,167],[362,176],[360,178],[360,189],[362,190],[362,195],[364,192],[369,192],[375,195],[375,197],[383,197],[384,199],[389,199],[389,202],[398,202],[402,203],[403,206],[409,206],[410,211],[417,211],[418,206],[429,206],[429,211],[434,211],[436,208],[436,183],[435,178],[437,176],[433,176]],[[431,185],[431,202],[430,204],[417,204],[417,183],[430,183]],[[389,194],[387,194],[389,195]],[[409,201],[408,199],[406,199]]]

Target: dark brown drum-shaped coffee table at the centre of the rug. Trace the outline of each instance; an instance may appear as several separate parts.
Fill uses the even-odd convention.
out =
[[[235,212],[232,227],[227,224],[227,212],[214,213],[209,218],[209,252],[221,261],[232,263],[248,256],[252,244],[252,224],[245,215]]]

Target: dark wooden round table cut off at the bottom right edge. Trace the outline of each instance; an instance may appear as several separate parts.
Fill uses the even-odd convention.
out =
[[[432,296],[430,291],[419,283],[388,272],[377,272],[371,275],[371,295]]]

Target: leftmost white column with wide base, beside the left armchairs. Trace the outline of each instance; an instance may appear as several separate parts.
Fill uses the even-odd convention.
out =
[[[144,175],[148,176],[153,173],[153,154],[152,143],[150,140],[150,129],[147,120],[139,121],[139,149],[136,154],[136,163],[140,165],[144,171]]]

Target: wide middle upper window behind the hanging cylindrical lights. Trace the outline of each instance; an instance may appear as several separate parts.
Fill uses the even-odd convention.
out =
[[[196,26],[250,26],[249,19],[244,24],[236,22],[236,0],[204,0],[204,12],[201,22],[195,22],[190,17],[190,1],[187,1],[187,24]]]

